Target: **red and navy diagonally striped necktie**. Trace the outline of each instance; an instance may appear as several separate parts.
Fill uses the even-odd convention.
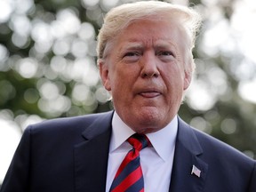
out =
[[[109,192],[144,192],[140,150],[148,147],[150,141],[146,135],[135,133],[128,139],[128,142],[133,148],[124,157]]]

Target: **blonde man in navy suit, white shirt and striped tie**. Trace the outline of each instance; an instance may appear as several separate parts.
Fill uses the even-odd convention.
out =
[[[163,2],[108,12],[98,63],[115,111],[30,125],[1,192],[255,192],[255,161],[177,116],[195,68],[199,24],[196,12]],[[130,145],[135,132],[147,148],[144,141],[141,150]],[[138,174],[125,175],[124,188],[116,189],[116,178],[138,156]]]

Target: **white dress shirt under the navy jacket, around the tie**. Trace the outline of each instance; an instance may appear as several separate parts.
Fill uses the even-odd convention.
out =
[[[134,133],[130,127],[124,124],[116,112],[112,120],[112,129],[106,192],[109,191],[124,156],[132,149],[126,140]],[[153,147],[144,148],[140,151],[145,192],[167,192],[169,190],[177,131],[178,119],[175,116],[172,122],[163,129],[147,134]]]

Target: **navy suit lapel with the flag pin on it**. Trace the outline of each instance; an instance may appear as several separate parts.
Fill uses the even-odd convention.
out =
[[[208,164],[200,159],[202,154],[203,149],[196,139],[195,132],[179,119],[169,192],[203,191]],[[193,165],[201,171],[199,177],[192,172]]]

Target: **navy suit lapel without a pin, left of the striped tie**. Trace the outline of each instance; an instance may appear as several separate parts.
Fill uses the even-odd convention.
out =
[[[76,192],[105,191],[112,113],[100,116],[74,148]]]

